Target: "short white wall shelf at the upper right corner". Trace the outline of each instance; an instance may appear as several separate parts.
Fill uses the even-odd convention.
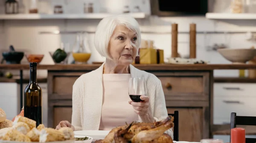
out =
[[[256,13],[207,13],[206,18],[216,20],[256,20]]]

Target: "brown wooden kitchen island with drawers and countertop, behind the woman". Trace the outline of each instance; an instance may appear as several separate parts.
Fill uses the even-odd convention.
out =
[[[73,83],[79,76],[97,69],[100,65],[38,65],[37,69],[48,70],[48,127],[55,127],[62,120],[71,121]],[[134,66],[154,74],[161,80],[168,113],[179,111],[180,140],[195,142],[212,137],[213,70],[256,69],[256,65],[249,64],[135,64]],[[2,64],[0,69],[20,70],[22,83],[22,71],[28,70],[29,64]],[[23,91],[20,92],[23,95]]]

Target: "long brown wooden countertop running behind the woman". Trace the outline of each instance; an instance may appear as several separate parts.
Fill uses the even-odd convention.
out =
[[[38,70],[95,70],[101,64],[38,64]],[[256,69],[252,64],[134,64],[140,70],[237,70]],[[0,64],[0,69],[28,70],[29,64]]]

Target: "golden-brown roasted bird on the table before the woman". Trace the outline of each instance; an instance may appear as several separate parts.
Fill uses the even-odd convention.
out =
[[[103,140],[95,143],[172,143],[164,132],[174,126],[173,117],[154,123],[130,123],[112,129]]]

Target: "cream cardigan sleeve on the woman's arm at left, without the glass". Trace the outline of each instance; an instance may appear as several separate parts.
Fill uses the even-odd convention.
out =
[[[81,85],[80,85],[81,86]],[[73,91],[72,91],[72,125],[75,128],[75,131],[82,130],[82,123],[81,123],[81,88],[79,84],[76,82],[73,84]]]

